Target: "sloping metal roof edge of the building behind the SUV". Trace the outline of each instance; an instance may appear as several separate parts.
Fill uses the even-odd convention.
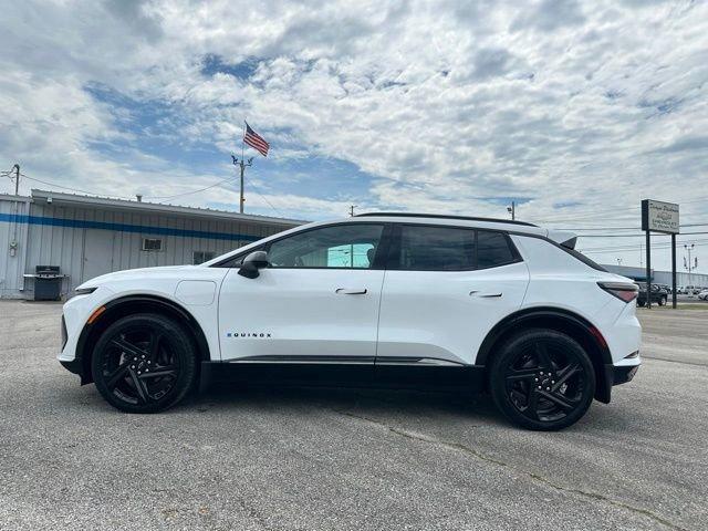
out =
[[[62,206],[103,207],[116,210],[137,210],[143,212],[155,212],[165,215],[199,216],[212,219],[228,219],[231,221],[268,222],[284,226],[299,226],[308,221],[299,219],[274,218],[270,216],[258,216],[253,214],[239,214],[228,210],[215,210],[211,208],[183,207],[178,205],[165,205],[162,202],[133,201],[128,199],[113,199],[110,197],[84,196],[79,194],[66,194],[63,191],[51,191],[32,188],[31,199],[37,202],[44,200]],[[27,198],[24,198],[27,199]]]

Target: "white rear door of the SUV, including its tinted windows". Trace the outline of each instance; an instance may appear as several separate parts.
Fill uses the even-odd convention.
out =
[[[508,235],[397,226],[382,291],[377,365],[473,364],[521,306],[529,271]]]

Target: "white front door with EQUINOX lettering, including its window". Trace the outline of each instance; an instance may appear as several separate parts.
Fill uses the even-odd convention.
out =
[[[227,274],[219,298],[223,361],[373,364],[384,280],[384,226],[348,222],[270,242],[256,279]]]

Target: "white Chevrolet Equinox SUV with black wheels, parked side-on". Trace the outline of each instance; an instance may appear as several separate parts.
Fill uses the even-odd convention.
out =
[[[513,423],[559,429],[641,363],[636,285],[574,242],[454,216],[310,223],[84,283],[59,360],[133,413],[215,379],[296,381],[488,389]]]

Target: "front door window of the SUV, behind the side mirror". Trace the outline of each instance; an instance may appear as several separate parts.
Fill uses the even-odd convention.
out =
[[[384,227],[347,223],[306,230],[273,241],[268,249],[272,268],[371,269]]]

